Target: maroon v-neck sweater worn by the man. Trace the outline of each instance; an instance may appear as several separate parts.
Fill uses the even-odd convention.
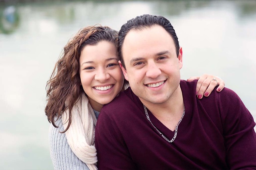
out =
[[[104,105],[95,133],[99,169],[256,169],[255,122],[241,99],[224,88],[199,100],[196,83],[180,82],[186,112],[172,143],[130,88]],[[174,132],[148,114],[171,140]]]

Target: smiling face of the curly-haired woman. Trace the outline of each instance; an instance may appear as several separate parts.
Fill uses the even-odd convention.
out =
[[[87,45],[81,52],[81,84],[92,108],[97,111],[122,89],[124,77],[118,60],[116,46],[107,41]]]

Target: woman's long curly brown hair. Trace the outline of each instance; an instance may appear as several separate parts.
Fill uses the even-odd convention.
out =
[[[81,51],[86,45],[97,45],[101,41],[107,41],[117,46],[118,32],[106,26],[89,26],[82,28],[69,40],[63,49],[60,59],[55,64],[54,70],[47,81],[47,104],[45,114],[48,121],[57,127],[55,121],[61,114],[69,109],[68,126],[63,131],[66,132],[71,124],[71,110],[78,101],[81,92],[79,75],[79,58]]]

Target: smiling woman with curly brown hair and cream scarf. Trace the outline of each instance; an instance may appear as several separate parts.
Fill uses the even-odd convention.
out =
[[[52,123],[49,137],[55,169],[97,169],[94,147],[97,117],[104,104],[128,87],[118,64],[117,38],[118,32],[109,27],[83,28],[67,43],[55,65],[47,82],[45,107]],[[221,91],[223,81],[202,76],[196,89],[198,96],[201,94],[199,98],[214,82],[205,96],[210,94],[215,81],[220,82],[218,91]],[[201,86],[202,82],[208,85]]]

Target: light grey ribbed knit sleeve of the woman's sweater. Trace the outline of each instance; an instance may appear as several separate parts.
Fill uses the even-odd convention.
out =
[[[50,153],[55,170],[89,170],[84,162],[82,162],[71,150],[64,131],[62,120],[58,119],[55,128],[52,124],[49,129]]]

